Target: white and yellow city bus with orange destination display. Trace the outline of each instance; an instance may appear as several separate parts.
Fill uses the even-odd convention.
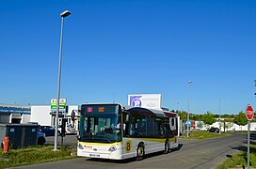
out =
[[[144,159],[178,147],[178,115],[119,103],[81,105],[77,155],[89,158]]]

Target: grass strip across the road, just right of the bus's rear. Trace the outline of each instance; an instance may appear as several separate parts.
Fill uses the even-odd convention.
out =
[[[180,138],[184,139],[209,139],[214,137],[220,137],[220,136],[227,136],[230,135],[229,132],[208,132],[208,131],[191,131],[189,133],[189,137],[186,137],[186,133],[184,133]]]

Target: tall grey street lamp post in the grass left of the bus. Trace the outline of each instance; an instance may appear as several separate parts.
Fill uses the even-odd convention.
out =
[[[58,75],[57,75],[57,94],[56,94],[56,133],[55,133],[55,147],[54,150],[57,150],[57,127],[58,127],[58,109],[59,109],[59,96],[60,96],[60,75],[61,75],[61,60],[62,60],[62,37],[63,37],[63,27],[64,27],[64,18],[69,16],[71,12],[65,10],[60,13],[61,20],[61,29],[60,29],[60,45],[59,45],[59,59],[58,59]]]

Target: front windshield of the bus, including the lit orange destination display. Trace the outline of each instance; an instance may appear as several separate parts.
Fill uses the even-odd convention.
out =
[[[119,106],[83,106],[80,117],[79,140],[93,143],[120,142]]]

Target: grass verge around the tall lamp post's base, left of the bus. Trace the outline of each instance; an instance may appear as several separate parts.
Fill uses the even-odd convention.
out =
[[[20,165],[29,165],[45,161],[57,161],[74,158],[71,153],[73,147],[58,147],[59,151],[54,151],[54,146],[31,146],[20,149],[10,149],[8,153],[0,150],[0,169]]]

